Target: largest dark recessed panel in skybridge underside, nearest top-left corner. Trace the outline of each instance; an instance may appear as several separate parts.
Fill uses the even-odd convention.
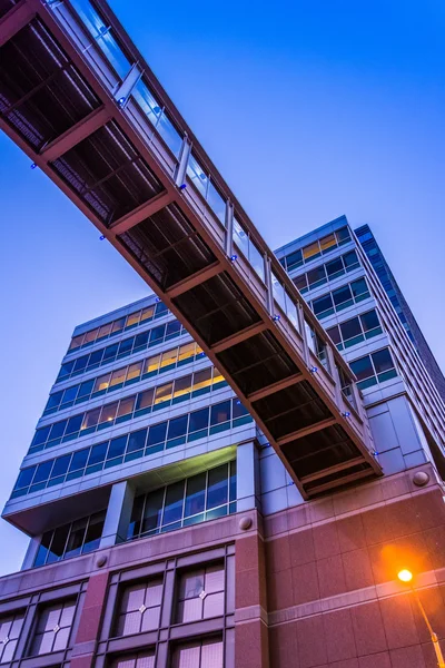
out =
[[[100,105],[39,19],[0,48],[0,115],[36,150]]]

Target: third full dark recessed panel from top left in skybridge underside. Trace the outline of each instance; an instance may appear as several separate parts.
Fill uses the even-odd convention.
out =
[[[158,212],[119,238],[162,289],[216,262],[177,205]]]

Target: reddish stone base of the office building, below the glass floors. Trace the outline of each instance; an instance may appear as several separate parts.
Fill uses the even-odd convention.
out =
[[[148,651],[144,666],[179,668],[182,648],[210,642],[214,662],[196,649],[196,668],[433,668],[425,621],[397,580],[404,567],[415,573],[445,646],[445,503],[433,469],[421,470],[424,487],[411,470],[266,518],[243,512],[4,577],[0,622],[21,620],[3,639],[4,651],[14,644],[6,665],[103,668],[128,658],[134,668]],[[209,564],[224,570],[218,613],[204,602],[200,615],[180,618],[180,578]],[[156,628],[119,632],[125,592],[154,580],[162,592]],[[191,592],[196,602],[211,596],[206,587]],[[32,654],[42,611],[63,601],[76,606],[66,647]]]

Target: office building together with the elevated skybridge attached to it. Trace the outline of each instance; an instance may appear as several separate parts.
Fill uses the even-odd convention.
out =
[[[434,666],[396,576],[443,639],[444,409],[346,218],[278,261],[102,0],[3,0],[0,91],[158,295],[73,332],[3,511],[0,664]]]

